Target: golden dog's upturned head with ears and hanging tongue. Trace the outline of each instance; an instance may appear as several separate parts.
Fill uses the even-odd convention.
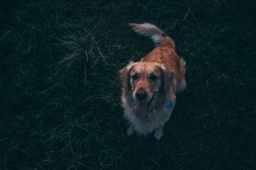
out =
[[[171,72],[156,62],[130,62],[120,70],[120,78],[125,94],[132,94],[138,117],[145,116],[154,94],[159,91],[168,94],[172,83]]]

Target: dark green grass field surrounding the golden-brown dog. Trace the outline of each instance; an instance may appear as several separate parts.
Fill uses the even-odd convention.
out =
[[[0,169],[256,169],[255,1],[5,1]],[[161,141],[126,134],[118,70],[157,25],[188,89]]]

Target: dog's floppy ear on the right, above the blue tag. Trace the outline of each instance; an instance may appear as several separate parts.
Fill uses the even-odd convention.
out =
[[[173,74],[171,71],[166,69],[166,67],[159,64],[159,69],[161,71],[161,90],[168,94],[171,90],[173,83]]]

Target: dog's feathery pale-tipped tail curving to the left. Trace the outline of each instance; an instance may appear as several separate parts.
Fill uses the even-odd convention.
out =
[[[168,38],[170,39],[170,42],[172,43],[173,47],[175,47],[175,44],[172,38],[167,36],[156,25],[152,25],[148,23],[144,23],[144,24],[130,23],[129,26],[138,34],[151,38],[154,41],[154,43],[156,43],[156,45],[161,43],[165,38]]]

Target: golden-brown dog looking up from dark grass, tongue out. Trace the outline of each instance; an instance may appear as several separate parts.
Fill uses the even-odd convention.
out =
[[[173,39],[156,25],[129,26],[141,36],[151,38],[156,47],[140,61],[131,61],[119,71],[122,107],[129,122],[127,134],[136,131],[147,136],[154,131],[154,138],[159,140],[175,106],[176,92],[186,89],[185,62],[175,52]]]

